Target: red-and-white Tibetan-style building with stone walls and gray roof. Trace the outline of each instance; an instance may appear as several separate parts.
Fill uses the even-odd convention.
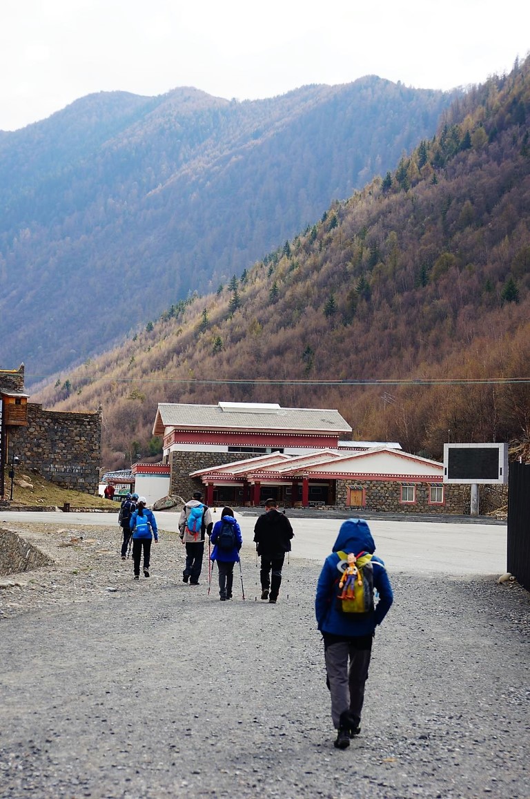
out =
[[[350,433],[338,411],[261,403],[161,403],[153,427],[168,494],[184,499],[200,489],[214,506],[274,497],[286,507],[466,512],[466,492],[444,485],[442,463]]]

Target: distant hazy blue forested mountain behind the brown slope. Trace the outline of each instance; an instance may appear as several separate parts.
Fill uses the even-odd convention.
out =
[[[100,93],[0,135],[0,364],[81,362],[215,290],[431,136],[448,93]]]

